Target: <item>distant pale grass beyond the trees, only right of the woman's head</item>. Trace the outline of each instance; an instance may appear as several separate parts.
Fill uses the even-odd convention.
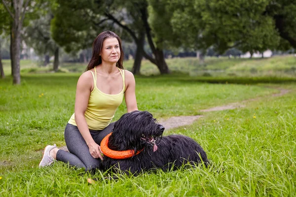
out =
[[[133,61],[124,62],[131,69]],[[271,58],[226,58],[206,57],[200,64],[197,58],[173,58],[166,60],[173,72],[189,73],[192,76],[296,76],[296,57],[294,55],[274,56]],[[143,60],[141,73],[159,74],[148,60]]]

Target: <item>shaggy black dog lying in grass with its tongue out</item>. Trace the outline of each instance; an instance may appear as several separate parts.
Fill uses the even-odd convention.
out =
[[[208,166],[205,151],[192,138],[184,135],[162,136],[163,131],[164,127],[156,123],[156,119],[147,111],[122,115],[114,124],[108,148],[131,150],[134,154],[127,159],[112,159],[105,155],[101,169],[116,173],[120,169],[121,172],[138,174],[151,169],[175,170],[184,164],[201,162]]]

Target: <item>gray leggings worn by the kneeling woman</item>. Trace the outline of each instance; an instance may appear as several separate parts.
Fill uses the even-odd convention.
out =
[[[112,132],[114,123],[111,123],[102,131],[89,130],[92,138],[97,144],[101,144],[102,139]],[[89,148],[79,132],[77,126],[67,124],[65,128],[65,141],[69,152],[58,150],[57,160],[64,163],[69,163],[75,167],[82,167],[85,171],[97,168],[100,165],[100,158],[94,159],[90,153]]]

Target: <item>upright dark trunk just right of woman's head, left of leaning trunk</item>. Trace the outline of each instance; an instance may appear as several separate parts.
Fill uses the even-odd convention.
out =
[[[137,50],[135,55],[134,66],[132,68],[133,74],[140,74],[141,62],[144,54],[144,43],[145,43],[145,33],[142,33],[139,37],[139,41],[136,43]]]

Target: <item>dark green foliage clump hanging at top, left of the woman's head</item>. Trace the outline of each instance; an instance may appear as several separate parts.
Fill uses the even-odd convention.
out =
[[[56,0],[52,5],[52,37],[66,52],[91,47],[97,36],[92,22],[100,20],[92,11],[93,8],[96,6],[92,0]]]

